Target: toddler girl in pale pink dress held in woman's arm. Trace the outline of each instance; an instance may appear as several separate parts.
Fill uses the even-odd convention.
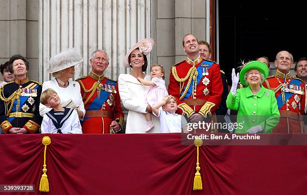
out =
[[[164,97],[168,96],[169,93],[165,86],[164,80],[165,70],[163,65],[152,65],[150,76],[150,80],[144,80],[141,77],[137,77],[137,80],[140,81],[143,85],[150,86],[150,89],[147,91],[145,95],[145,100],[150,107],[152,105],[157,104],[162,101]],[[150,113],[144,114],[147,120],[146,132],[155,127],[155,125],[151,121]]]

